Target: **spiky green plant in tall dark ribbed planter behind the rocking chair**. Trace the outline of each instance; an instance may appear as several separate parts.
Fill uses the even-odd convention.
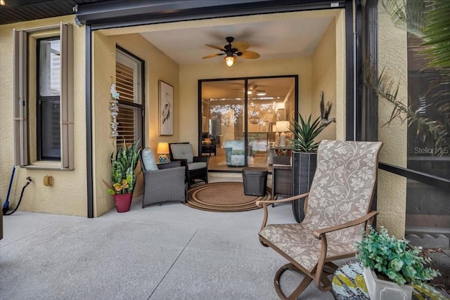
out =
[[[293,152],[293,195],[301,195],[309,192],[312,178],[316,172],[317,147],[319,142],[315,139],[329,124],[336,122],[335,118],[328,119],[331,103],[323,103],[323,91],[320,93],[321,115],[311,121],[311,115],[304,119],[299,114],[299,121],[295,119],[290,124],[290,131],[294,134],[292,141]],[[293,213],[295,220],[301,222],[304,219],[304,198],[293,201]]]

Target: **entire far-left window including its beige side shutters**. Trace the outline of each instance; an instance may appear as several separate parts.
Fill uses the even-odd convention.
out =
[[[72,25],[14,30],[15,164],[74,169]]]

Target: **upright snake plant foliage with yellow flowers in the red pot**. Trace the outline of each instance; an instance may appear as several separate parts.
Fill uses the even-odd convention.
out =
[[[113,188],[108,189],[111,195],[133,193],[136,185],[137,176],[136,166],[139,160],[139,153],[141,148],[138,148],[138,143],[127,146],[124,142],[122,146],[111,154],[111,181]]]

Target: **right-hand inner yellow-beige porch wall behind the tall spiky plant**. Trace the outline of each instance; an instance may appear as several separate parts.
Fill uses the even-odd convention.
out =
[[[320,93],[323,91],[323,102],[331,103],[331,112],[329,118],[336,117],[336,22],[331,21],[326,32],[323,34],[319,46],[312,55],[312,80],[311,80],[311,119],[316,119],[321,115],[319,100]],[[340,101],[344,99],[340,98]],[[302,112],[302,110],[300,110]],[[303,117],[307,117],[302,112]],[[345,119],[340,116],[339,119]],[[318,136],[318,140],[336,139],[336,124],[331,123]]]

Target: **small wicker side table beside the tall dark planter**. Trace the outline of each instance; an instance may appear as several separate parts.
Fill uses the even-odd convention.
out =
[[[293,195],[293,174],[290,156],[274,157],[272,165],[272,200],[276,197],[290,197]],[[272,207],[275,205],[272,204]]]

